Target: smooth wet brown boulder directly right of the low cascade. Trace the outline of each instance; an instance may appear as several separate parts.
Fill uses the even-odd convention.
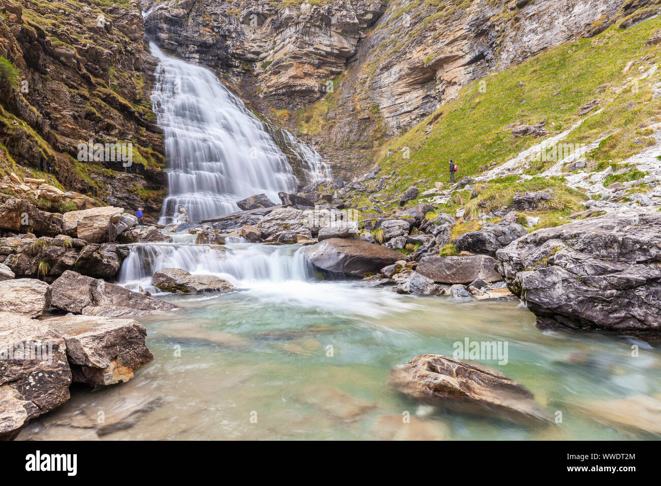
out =
[[[381,268],[401,259],[402,254],[360,239],[325,239],[303,250],[322,270],[355,276],[378,273]]]

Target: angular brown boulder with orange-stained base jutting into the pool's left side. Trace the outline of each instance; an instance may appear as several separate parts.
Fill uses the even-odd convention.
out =
[[[145,346],[145,327],[134,319],[66,315],[45,322],[64,338],[75,382],[128,382],[140,366],[154,358]]]

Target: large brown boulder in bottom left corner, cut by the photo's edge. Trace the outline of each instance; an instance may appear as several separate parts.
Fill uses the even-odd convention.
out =
[[[0,440],[69,399],[71,370],[58,331],[36,319],[0,312]]]

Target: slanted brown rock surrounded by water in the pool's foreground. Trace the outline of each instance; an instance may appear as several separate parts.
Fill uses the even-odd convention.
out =
[[[552,423],[523,385],[440,354],[423,354],[393,367],[388,383],[412,399],[461,413],[527,425]]]

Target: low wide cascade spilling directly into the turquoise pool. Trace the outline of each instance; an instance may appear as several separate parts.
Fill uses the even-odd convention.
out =
[[[132,290],[147,288],[151,276],[161,268],[213,274],[237,287],[259,281],[309,280],[314,273],[311,263],[295,245],[138,243],[130,245],[118,282]]]

